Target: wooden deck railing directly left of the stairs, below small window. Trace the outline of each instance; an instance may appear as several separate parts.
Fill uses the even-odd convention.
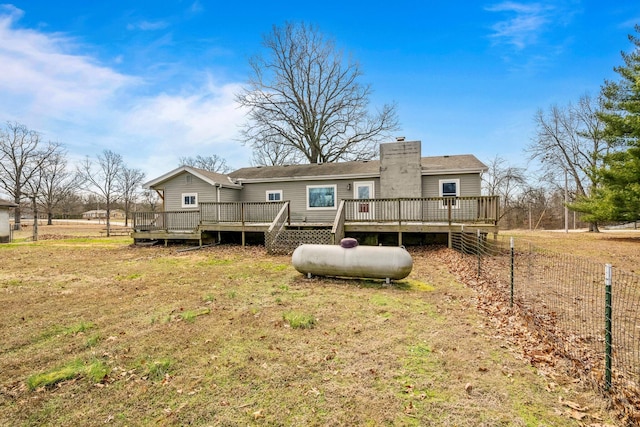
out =
[[[287,202],[200,203],[203,223],[271,223]]]

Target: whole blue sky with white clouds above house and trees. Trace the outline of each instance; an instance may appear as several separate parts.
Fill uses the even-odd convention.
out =
[[[397,135],[423,155],[525,166],[536,110],[617,78],[640,2],[15,1],[0,5],[0,121],[63,143],[72,161],[113,150],[148,179],[181,156],[248,166],[233,97],[285,21],[317,25],[357,59],[372,108],[397,103]]]

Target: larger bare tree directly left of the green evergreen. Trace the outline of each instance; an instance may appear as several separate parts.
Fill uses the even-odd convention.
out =
[[[597,114],[600,102],[584,95],[577,105],[553,105],[547,112],[538,110],[534,117],[536,136],[527,148],[530,158],[539,160],[555,182],[568,174],[576,196],[589,195],[597,187],[597,171],[612,149]],[[596,223],[590,228],[598,231]]]

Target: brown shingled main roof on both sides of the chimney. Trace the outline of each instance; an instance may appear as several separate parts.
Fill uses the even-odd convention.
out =
[[[422,157],[422,174],[480,173],[487,166],[472,154]],[[229,176],[234,181],[278,181],[310,178],[353,178],[380,176],[380,161],[356,161],[287,166],[258,166],[238,169]]]

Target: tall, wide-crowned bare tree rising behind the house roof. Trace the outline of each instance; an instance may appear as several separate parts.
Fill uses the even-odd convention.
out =
[[[358,82],[358,63],[317,28],[274,26],[263,46],[267,55],[250,60],[248,87],[236,97],[248,109],[242,139],[258,153],[284,145],[309,163],[370,159],[398,128],[395,105],[368,112],[371,87]]]

